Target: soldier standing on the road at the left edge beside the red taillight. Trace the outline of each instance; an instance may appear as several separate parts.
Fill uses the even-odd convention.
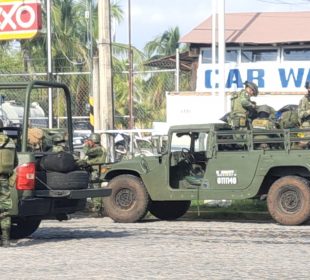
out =
[[[14,166],[16,165],[16,150],[14,141],[2,132],[0,133],[1,149],[9,149],[11,151],[10,153],[1,155],[1,161],[6,161],[6,164],[8,162],[12,163],[11,166],[0,168],[0,229],[2,231],[0,246],[9,247],[11,230],[11,216],[9,211],[12,208],[9,177],[12,175]]]

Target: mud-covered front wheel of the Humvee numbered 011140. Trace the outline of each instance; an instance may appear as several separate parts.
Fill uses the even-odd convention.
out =
[[[148,211],[149,195],[140,178],[120,175],[112,179],[109,197],[103,198],[107,216],[119,223],[134,223],[144,218]]]

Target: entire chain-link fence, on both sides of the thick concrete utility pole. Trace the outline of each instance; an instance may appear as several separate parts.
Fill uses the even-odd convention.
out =
[[[164,63],[164,62],[163,62]],[[163,67],[164,64],[163,64]],[[133,118],[136,128],[151,128],[153,122],[166,121],[166,92],[176,89],[176,70],[161,69],[133,72]],[[17,69],[20,71],[21,69]],[[41,69],[40,69],[41,70]],[[69,70],[69,69],[65,69]],[[63,72],[53,75],[54,81],[66,84],[72,93],[72,115],[74,129],[90,129],[89,95],[91,92],[90,72]],[[8,73],[0,69],[0,83],[19,83],[32,80],[47,80],[46,73]],[[180,90],[189,88],[190,73],[180,72]],[[23,102],[21,90],[1,93],[1,102]],[[114,120],[116,128],[129,127],[129,75],[128,72],[113,72]],[[36,102],[48,115],[48,95],[36,93],[31,102]],[[63,103],[53,101],[53,112],[62,110]],[[111,105],[112,106],[112,105]],[[22,116],[20,116],[22,118]]]

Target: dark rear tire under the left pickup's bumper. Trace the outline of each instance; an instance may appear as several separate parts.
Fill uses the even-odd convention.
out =
[[[13,217],[11,224],[11,238],[21,239],[31,235],[38,229],[40,223],[40,219]]]

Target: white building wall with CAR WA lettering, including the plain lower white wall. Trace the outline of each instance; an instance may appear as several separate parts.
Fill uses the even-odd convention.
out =
[[[230,111],[230,97],[245,81],[259,87],[257,105],[268,104],[279,110],[298,104],[310,80],[310,46],[227,47],[225,97],[218,89],[218,70],[211,64],[211,49],[201,48],[198,59],[196,91],[167,94],[167,123],[191,124],[218,122]]]

